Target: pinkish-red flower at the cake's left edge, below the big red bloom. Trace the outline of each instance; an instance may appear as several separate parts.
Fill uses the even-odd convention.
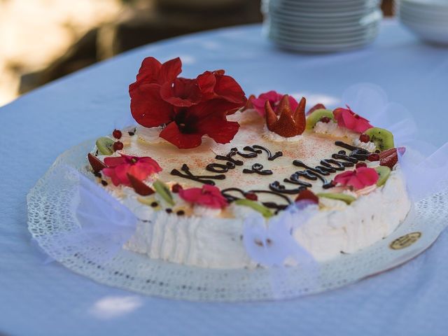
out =
[[[118,157],[105,158],[104,163],[107,167],[102,171],[104,175],[112,179],[114,186],[119,186],[120,184],[130,186],[131,182],[127,174],[143,181],[151,174],[162,171],[158,163],[148,157],[138,158],[137,156],[121,154]]]

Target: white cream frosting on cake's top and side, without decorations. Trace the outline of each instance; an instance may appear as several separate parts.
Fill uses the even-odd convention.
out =
[[[224,180],[216,181],[216,186],[221,190],[232,187],[246,191],[269,190],[270,182],[277,180],[283,183],[284,178],[302,169],[295,167],[293,160],[302,160],[310,167],[320,165],[322,159],[331,158],[332,153],[342,149],[335,146],[335,140],[353,144],[359,137],[359,134],[337,127],[335,123],[321,122],[316,124],[314,132],[305,132],[293,137],[295,139],[285,139],[272,133],[267,137],[265,134],[269,131],[262,118],[253,111],[247,111],[247,114],[235,113],[231,117],[239,120],[241,129],[230,144],[216,144],[211,139],[204,138],[201,146],[179,151],[172,144],[156,139],[160,130],[148,131],[137,127],[136,137],[131,137],[130,144],[114,155],[125,153],[151,156],[163,168],[158,179],[169,186],[180,183],[183,188],[192,188],[200,187],[202,183],[173,176],[170,174],[172,169],[181,169],[183,163],[187,163],[194,174],[211,175],[214,173],[207,172],[205,167],[213,162],[223,163],[216,161],[216,155],[225,155],[231,148],[242,151],[244,146],[261,145],[269,148],[272,153],[281,151],[283,155],[275,160],[268,160],[265,152],[259,153],[256,159],[235,157],[244,164],[230,169]],[[367,143],[367,146],[371,145]],[[241,174],[243,169],[251,169],[255,162],[263,165],[263,169],[272,170],[274,175]],[[366,163],[369,167],[378,165],[378,162]],[[332,179],[332,176],[328,179]],[[321,181],[303,181],[313,185],[314,193],[341,191],[337,190],[339,187],[325,190]],[[286,188],[297,187],[284,184]],[[169,205],[157,193],[139,197],[129,193],[131,189],[127,187],[107,188],[139,218],[135,234],[125,244],[128,250],[149,258],[197,267],[256,267],[243,244],[244,218],[254,214],[253,209],[235,203],[222,211],[197,205],[191,207],[174,193],[176,205],[167,213],[163,209]],[[384,186],[370,186],[356,193],[344,190],[343,193],[356,200],[348,205],[340,200],[319,197],[320,211],[293,232],[297,243],[306,248],[316,260],[337,258],[342,253],[353,253],[374,244],[395,230],[404,221],[411,207],[404,180],[396,169],[391,172]],[[261,202],[279,202],[279,198],[269,194],[259,197]],[[295,195],[289,197],[294,200]],[[158,207],[150,206],[153,201],[158,202]],[[184,216],[176,215],[178,211],[183,211]]]

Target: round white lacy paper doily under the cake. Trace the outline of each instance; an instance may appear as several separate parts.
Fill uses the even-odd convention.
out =
[[[44,251],[54,250],[51,244],[58,235],[76,230],[74,214],[68,210],[71,195],[64,188],[51,186],[52,172],[58,165],[85,172],[85,155],[92,143],[86,141],[60,155],[29,192],[29,231]],[[85,251],[64,251],[50,256],[99,283],[146,295],[228,302],[290,298],[345,286],[414,258],[448,225],[448,188],[415,204],[415,212],[412,221],[400,225],[386,239],[357,253],[320,262],[317,272],[312,274],[300,267],[202,269],[149,259],[123,249],[101,263],[87,260],[83,257]]]

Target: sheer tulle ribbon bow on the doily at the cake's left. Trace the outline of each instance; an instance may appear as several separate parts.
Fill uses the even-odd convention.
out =
[[[137,217],[103,188],[66,165],[55,167],[51,183],[71,195],[67,204],[67,230],[52,235],[43,246],[52,258],[83,255],[92,262],[105,262],[121,250],[137,227]],[[56,188],[55,188],[56,189]]]

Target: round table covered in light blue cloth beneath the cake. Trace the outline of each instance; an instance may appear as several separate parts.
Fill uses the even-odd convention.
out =
[[[126,52],[0,109],[0,335],[447,335],[448,233],[402,267],[321,295],[214,304],[144,297],[95,283],[45,255],[27,232],[25,196],[59,153],[110,132],[130,113],[141,59],[180,56],[183,75],[226,69],[246,93],[276,89],[335,102],[370,82],[417,118],[421,138],[447,141],[448,50],[386,20],[369,48],[297,55],[260,25],[174,38]]]

